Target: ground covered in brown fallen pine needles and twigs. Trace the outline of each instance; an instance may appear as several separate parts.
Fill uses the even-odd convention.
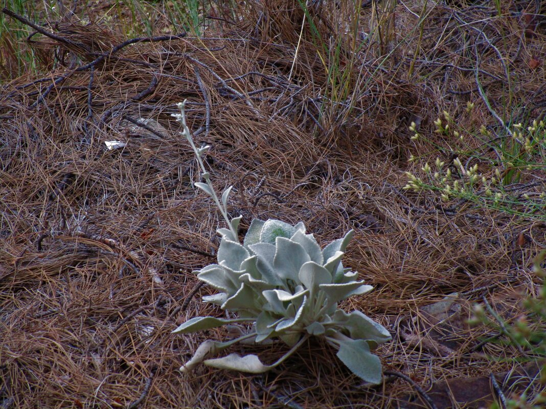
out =
[[[544,117],[544,9],[503,3],[211,5],[199,37],[128,39],[81,10],[23,21],[41,70],[0,91],[0,406],[477,408],[498,389],[530,393],[536,365],[508,359],[525,351],[467,319],[486,302],[513,320],[537,291],[544,216],[402,189],[424,161],[455,166],[456,141],[435,132],[443,111],[484,175],[509,137],[498,119]],[[264,375],[177,371],[229,337],[170,333],[221,314],[192,273],[215,261],[223,221],[170,117],[185,99],[241,234],[253,218],[304,221],[323,245],[355,230],[345,264],[375,290],[346,307],[393,334],[377,350],[383,384],[314,341]],[[489,145],[470,131],[481,125]],[[506,189],[539,197],[544,178],[522,170]],[[268,362],[286,350],[244,348],[232,352]]]

